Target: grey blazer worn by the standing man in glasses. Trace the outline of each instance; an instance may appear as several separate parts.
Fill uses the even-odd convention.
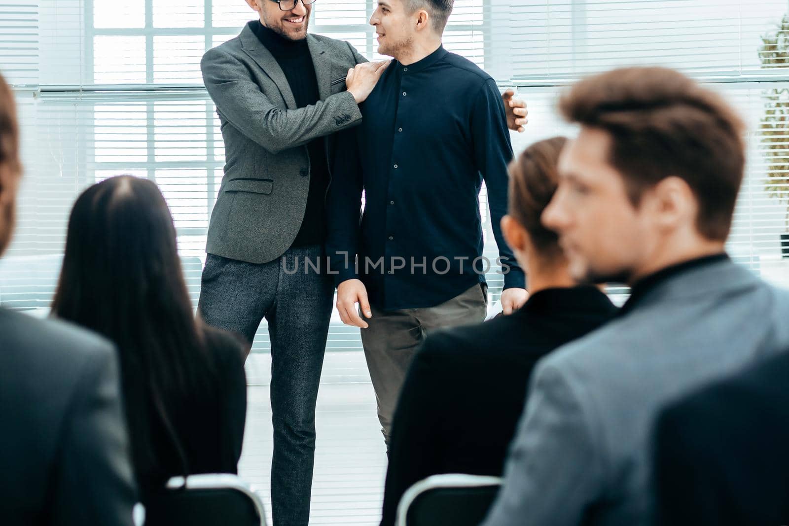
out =
[[[307,35],[307,43],[320,101],[304,108],[296,107],[285,74],[249,25],[200,62],[226,158],[208,226],[208,253],[249,263],[282,256],[304,218],[310,177],[306,145],[361,121],[345,77],[365,58],[342,40]],[[327,142],[327,155],[331,150]]]

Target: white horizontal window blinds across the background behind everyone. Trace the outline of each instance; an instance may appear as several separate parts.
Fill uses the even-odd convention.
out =
[[[0,304],[46,314],[70,207],[88,185],[118,173],[162,189],[178,228],[196,300],[208,218],[224,147],[200,57],[255,13],[241,0],[10,0],[0,6],[0,70],[23,128],[24,181],[13,244],[0,259]],[[749,161],[729,249],[786,284],[787,32],[785,0],[457,0],[447,49],[518,87],[529,125],[516,152],[570,134],[555,100],[571,80],[619,65],[659,64],[709,82],[748,121]],[[380,58],[371,0],[317,0],[310,31]],[[785,24],[789,28],[789,24]],[[763,38],[764,37],[764,38]],[[486,255],[495,259],[486,196]],[[494,297],[501,279],[491,275]],[[626,290],[611,293],[625,297]],[[254,350],[267,350],[265,325]],[[329,349],[358,349],[358,330],[332,321]]]

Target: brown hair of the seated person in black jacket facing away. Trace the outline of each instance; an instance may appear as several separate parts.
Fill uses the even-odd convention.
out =
[[[540,216],[556,192],[556,164],[566,143],[565,137],[540,140],[510,162],[508,213],[526,229],[534,248],[545,259],[555,259],[563,254],[559,248],[559,237],[543,226]]]

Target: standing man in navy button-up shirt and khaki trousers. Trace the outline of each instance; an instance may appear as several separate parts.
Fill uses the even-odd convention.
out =
[[[370,23],[379,53],[394,61],[361,106],[362,124],[338,138],[327,199],[337,308],[344,323],[362,327],[387,445],[400,387],[426,331],[484,319],[484,273],[497,262],[481,257],[483,180],[505,272],[504,311],[527,297],[499,228],[512,159],[507,116],[491,76],[441,45],[452,4],[378,2]]]

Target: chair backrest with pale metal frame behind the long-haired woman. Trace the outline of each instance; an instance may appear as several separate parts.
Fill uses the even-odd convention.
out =
[[[145,526],[266,526],[263,502],[243,480],[226,473],[177,476],[148,499]]]

